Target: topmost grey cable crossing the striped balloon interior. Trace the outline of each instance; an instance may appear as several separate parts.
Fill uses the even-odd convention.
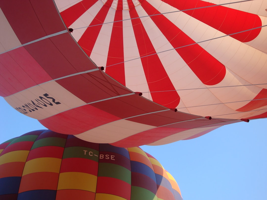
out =
[[[93,26],[100,26],[100,25],[109,24],[109,23],[115,23],[115,22],[122,22],[122,21],[126,21],[126,20],[139,19],[139,18],[144,18],[144,17],[153,17],[153,16],[156,16],[156,15],[164,15],[164,14],[169,14],[169,13],[184,12],[184,11],[189,11],[189,10],[197,10],[197,9],[202,9],[202,8],[216,7],[216,6],[224,6],[224,5],[230,5],[230,4],[234,4],[234,3],[242,3],[242,2],[247,2],[247,1],[255,1],[255,0],[235,1],[235,2],[222,3],[222,4],[211,5],[211,6],[203,6],[203,7],[197,7],[197,8],[190,8],[190,9],[185,9],[185,10],[176,10],[176,11],[171,11],[171,12],[167,12],[167,13],[159,13],[159,14],[153,14],[153,15],[146,15],[146,16],[134,17],[134,18],[129,18],[129,19],[122,19],[122,20],[118,20],[118,21],[105,22],[105,23],[95,24],[95,25],[91,25],[91,26],[84,26],[84,27],[73,29],[73,30],[84,29],[84,28],[93,27]]]

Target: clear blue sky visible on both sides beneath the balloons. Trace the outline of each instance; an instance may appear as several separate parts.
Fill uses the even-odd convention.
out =
[[[0,143],[45,129],[0,97]],[[199,138],[142,146],[169,171],[184,200],[266,200],[267,119],[223,126]]]

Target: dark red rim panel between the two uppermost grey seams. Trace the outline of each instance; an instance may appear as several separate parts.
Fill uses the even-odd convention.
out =
[[[88,64],[89,59],[83,55],[69,33],[32,43],[25,49],[53,79],[96,69],[94,65]]]

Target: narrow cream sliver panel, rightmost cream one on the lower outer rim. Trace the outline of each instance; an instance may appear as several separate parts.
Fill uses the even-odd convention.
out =
[[[162,138],[156,142],[153,142],[151,144],[151,146],[156,146],[156,145],[166,145],[172,142],[176,142],[182,139],[186,139],[189,138],[193,135],[196,135],[198,133],[202,133],[203,131],[207,131],[210,129],[215,129],[215,128],[219,128],[221,126],[214,126],[214,127],[202,127],[202,128],[195,128],[195,129],[190,129],[190,130],[186,130],[186,131],[182,131],[180,133],[175,133],[173,135],[167,136],[166,138]]]

